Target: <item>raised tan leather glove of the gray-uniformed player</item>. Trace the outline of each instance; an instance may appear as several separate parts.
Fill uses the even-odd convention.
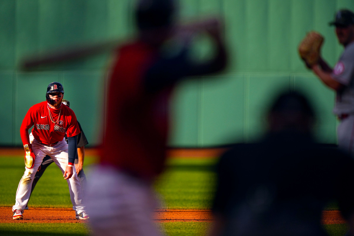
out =
[[[323,40],[324,38],[321,34],[310,31],[301,41],[298,51],[301,59],[306,63],[308,68],[318,62]]]

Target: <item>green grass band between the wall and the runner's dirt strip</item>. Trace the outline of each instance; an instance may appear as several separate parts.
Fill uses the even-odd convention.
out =
[[[22,157],[0,159],[0,206],[15,203],[15,193],[24,172]],[[90,165],[94,158],[86,157],[84,170],[90,178]],[[210,167],[214,160],[177,159],[169,161],[169,171],[156,182],[163,209],[210,209],[215,175]],[[33,191],[29,207],[71,208],[66,180],[59,168],[52,164],[44,172]]]

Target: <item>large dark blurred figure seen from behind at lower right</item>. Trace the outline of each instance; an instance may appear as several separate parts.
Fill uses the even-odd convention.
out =
[[[353,222],[354,161],[316,144],[314,121],[303,95],[284,93],[269,110],[268,133],[222,155],[211,235],[327,235],[321,213],[332,201]]]

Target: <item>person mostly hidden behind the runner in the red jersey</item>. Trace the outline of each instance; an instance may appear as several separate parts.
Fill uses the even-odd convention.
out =
[[[69,101],[63,99],[62,103],[64,103],[68,107],[70,107]],[[78,174],[79,180],[81,182],[82,192],[85,193],[87,181],[86,181],[86,175],[84,173],[84,169],[82,169],[82,164],[84,162],[84,157],[85,157],[85,148],[84,147],[85,147],[85,145],[89,144],[89,142],[87,142],[86,136],[84,134],[84,131],[82,131],[79,121],[78,121],[78,125],[79,125],[81,132],[77,136],[78,137],[78,152],[77,152],[76,158],[75,158],[75,168],[76,168],[76,171],[79,170],[79,173],[77,173],[77,174]],[[66,134],[65,134],[65,139],[67,140]],[[32,189],[31,189],[31,195],[32,195],[32,191],[33,191],[34,187],[36,186],[38,180],[41,178],[45,169],[53,162],[54,161],[50,158],[50,156],[47,155],[44,157],[42,164],[40,165],[38,171],[36,172],[36,175],[34,176],[33,183],[32,183]],[[28,209],[28,203],[27,203],[25,209]]]

